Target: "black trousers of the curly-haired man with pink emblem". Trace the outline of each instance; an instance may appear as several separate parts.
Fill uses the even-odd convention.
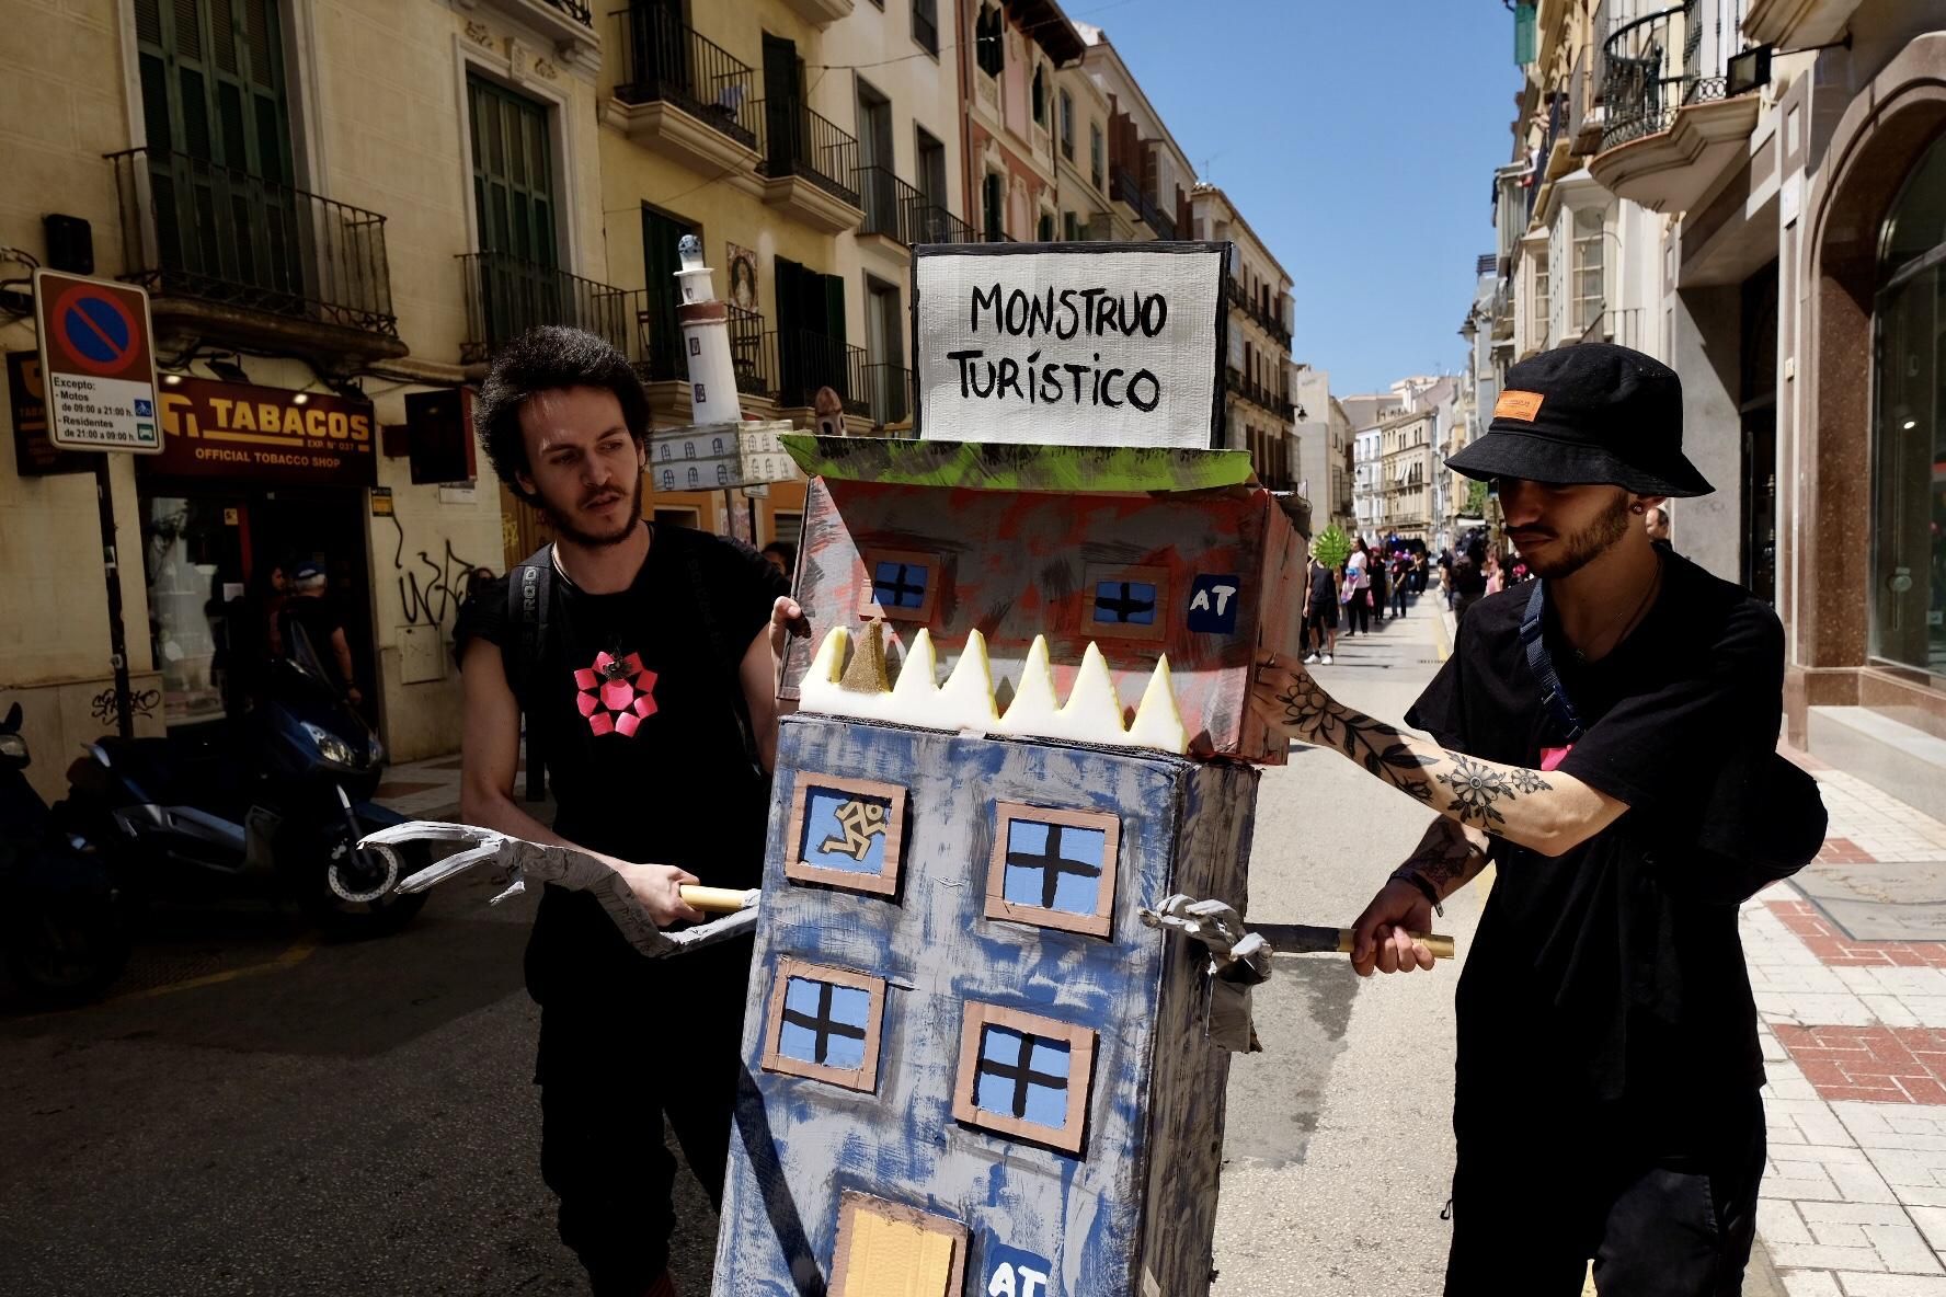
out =
[[[736,941],[660,961],[599,1009],[562,996],[541,1009],[541,1178],[595,1297],[640,1297],[669,1264],[677,1161],[664,1118],[722,1206],[747,968],[749,941]]]

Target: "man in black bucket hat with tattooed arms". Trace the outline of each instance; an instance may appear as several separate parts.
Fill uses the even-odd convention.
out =
[[[1352,964],[1430,968],[1411,937],[1498,865],[1456,996],[1448,1293],[1738,1293],[1763,1174],[1763,1083],[1738,904],[1823,840],[1777,756],[1783,628],[1650,543],[1711,484],[1681,383],[1621,346],[1506,373],[1446,461],[1498,484],[1539,578],[1483,599],[1407,712],[1421,739],[1267,657],[1253,702],[1438,811],[1358,918]]]

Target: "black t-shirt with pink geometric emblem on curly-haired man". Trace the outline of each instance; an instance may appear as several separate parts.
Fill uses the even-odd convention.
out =
[[[592,595],[559,568],[549,583],[549,642],[522,702],[547,762],[555,832],[681,865],[710,887],[757,887],[769,786],[739,719],[738,665],[788,585],[738,541],[681,527],[652,537],[625,591]],[[463,605],[453,651],[475,636],[498,644],[523,694],[506,581],[483,581]],[[535,999],[623,990],[650,963],[592,896],[547,889],[527,947]]]

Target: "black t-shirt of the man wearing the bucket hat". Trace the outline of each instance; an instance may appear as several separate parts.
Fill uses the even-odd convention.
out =
[[[1561,747],[1520,642],[1528,597],[1467,613],[1411,725],[1526,768]],[[1617,1104],[1681,1128],[1763,1083],[1738,902],[1823,838],[1816,786],[1775,754],[1783,628],[1668,554],[1656,605],[1607,657],[1578,661],[1553,614],[1547,646],[1586,729],[1559,770],[1629,811],[1553,859],[1495,844],[1458,990],[1461,1110]]]

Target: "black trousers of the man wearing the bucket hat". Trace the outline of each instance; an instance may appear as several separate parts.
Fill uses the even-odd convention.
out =
[[[1683,1114],[1697,1132],[1600,1112],[1456,1114],[1446,1297],[1738,1297],[1757,1237],[1763,1103]],[[1656,1151],[1681,1149],[1681,1151]]]

